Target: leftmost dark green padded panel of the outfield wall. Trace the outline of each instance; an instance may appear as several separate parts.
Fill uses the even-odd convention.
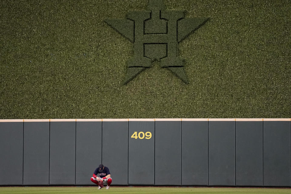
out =
[[[0,122],[0,185],[22,185],[23,122]]]

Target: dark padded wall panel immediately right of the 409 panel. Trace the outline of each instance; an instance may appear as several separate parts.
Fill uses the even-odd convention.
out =
[[[181,185],[181,121],[155,122],[155,185]]]

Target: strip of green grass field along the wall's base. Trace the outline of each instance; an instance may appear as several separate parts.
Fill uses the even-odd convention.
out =
[[[210,193],[239,193],[239,194],[284,194],[291,193],[291,189],[257,189],[257,188],[248,188],[248,189],[236,189],[236,188],[167,188],[167,187],[111,187],[109,190],[105,188],[97,190],[97,187],[0,187],[1,194],[31,194],[31,193],[131,193],[131,194],[163,194],[163,193],[191,193],[191,194],[210,194]]]

